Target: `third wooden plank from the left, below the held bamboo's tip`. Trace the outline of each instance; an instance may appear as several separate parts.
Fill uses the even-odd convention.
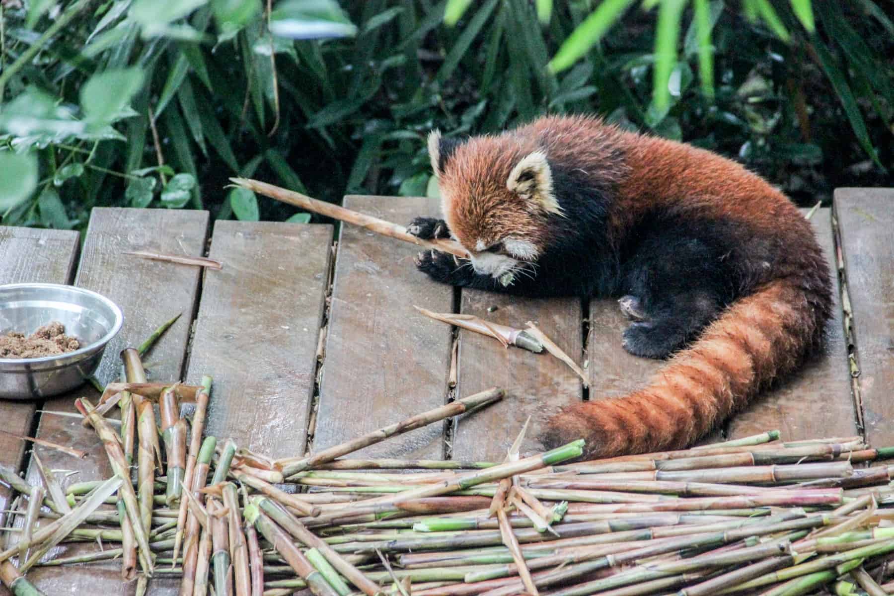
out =
[[[215,222],[191,382],[214,379],[207,433],[270,457],[304,455],[333,226]]]

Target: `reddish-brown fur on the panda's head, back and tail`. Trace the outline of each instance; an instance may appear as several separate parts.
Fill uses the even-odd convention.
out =
[[[565,409],[551,421],[548,444],[583,437],[589,454],[600,457],[684,447],[795,370],[819,345],[831,294],[809,222],[760,177],[696,147],[589,118],[544,118],[499,137],[469,139],[440,180],[445,219],[467,247],[506,235],[544,245],[544,215],[504,186],[513,165],[541,147],[551,163],[579,168],[595,187],[612,189],[608,237],[616,245],[658,208],[740,222],[772,239],[780,255],[767,279],[642,390],[620,399],[592,395]]]

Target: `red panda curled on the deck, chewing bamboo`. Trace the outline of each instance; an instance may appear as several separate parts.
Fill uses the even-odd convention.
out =
[[[584,117],[543,117],[428,153],[458,263],[424,253],[436,281],[520,296],[620,298],[623,347],[667,358],[644,388],[552,417],[542,440],[589,457],[679,449],[793,372],[831,317],[828,264],[787,197],[729,159]]]

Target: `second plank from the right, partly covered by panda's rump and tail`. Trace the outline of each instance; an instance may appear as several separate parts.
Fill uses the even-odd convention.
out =
[[[806,209],[803,210],[806,213]],[[816,239],[829,262],[835,287],[835,316],[830,321],[822,354],[755,400],[728,426],[730,439],[779,429],[783,440],[844,437],[856,434],[854,399],[848,371],[848,346],[841,325],[841,301],[835,272],[831,209],[811,218]]]

